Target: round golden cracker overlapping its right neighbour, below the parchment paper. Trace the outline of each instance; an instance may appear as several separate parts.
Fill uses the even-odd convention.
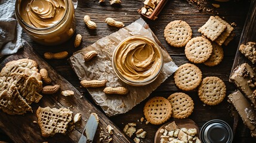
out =
[[[153,97],[146,102],[143,111],[147,121],[160,125],[171,117],[172,107],[164,97]]]

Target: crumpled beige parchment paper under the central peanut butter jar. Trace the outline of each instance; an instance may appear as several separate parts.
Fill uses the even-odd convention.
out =
[[[131,86],[122,82],[116,76],[112,67],[112,54],[116,46],[125,38],[134,35],[146,36],[147,38],[155,39],[152,36],[150,29],[145,29],[140,23],[145,23],[142,18],[127,27],[124,27],[118,32],[112,33],[109,36],[101,38],[92,45],[75,52],[70,57],[70,63],[78,75],[80,80],[107,80],[106,86],[118,87],[125,86],[129,89],[127,95],[106,95],[103,88],[87,88],[94,101],[103,108],[107,116],[114,116],[117,114],[126,113],[135,105],[149,97],[150,93],[158,88],[178,67],[169,57],[169,54],[163,49],[164,54],[164,68],[159,74],[158,78],[144,86]],[[89,51],[97,51],[97,57],[92,58],[91,61],[84,61],[85,53]]]

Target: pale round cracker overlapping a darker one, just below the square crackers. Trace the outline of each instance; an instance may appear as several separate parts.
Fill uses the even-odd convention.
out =
[[[203,63],[212,54],[211,42],[203,37],[192,38],[185,47],[187,59],[193,63]]]

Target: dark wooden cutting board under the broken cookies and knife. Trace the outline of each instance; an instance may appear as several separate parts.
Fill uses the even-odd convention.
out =
[[[39,69],[47,69],[51,77],[53,85],[60,85],[60,90],[53,95],[43,95],[39,104],[33,103],[33,113],[26,113],[22,115],[8,115],[0,112],[0,127],[7,133],[14,142],[78,142],[81,133],[84,130],[86,120],[89,119],[91,113],[97,113],[99,118],[99,125],[95,140],[99,141],[99,133],[101,130],[107,134],[107,125],[115,128],[115,134],[112,136],[115,142],[130,142],[128,138],[104,115],[100,110],[94,107],[74,86],[67,82],[64,77],[60,76],[56,71],[49,66],[41,57],[38,57],[33,48],[25,43],[23,49],[18,51],[17,54],[11,55],[6,58],[1,64],[0,68],[5,66],[8,61],[18,60],[20,58],[29,58],[38,63]],[[75,92],[73,97],[64,97],[60,94],[61,91],[71,90]],[[37,123],[36,110],[38,107],[51,107],[51,108],[70,108],[73,111],[73,116],[76,113],[81,113],[82,120],[75,124],[75,129],[67,133],[67,135],[55,135],[54,137],[44,138],[41,135],[41,129]],[[118,135],[119,133],[119,135]]]

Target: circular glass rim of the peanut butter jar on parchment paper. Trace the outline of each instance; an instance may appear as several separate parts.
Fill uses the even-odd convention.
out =
[[[161,66],[160,66],[158,72],[157,72],[154,76],[150,77],[149,79],[146,79],[146,80],[129,80],[129,79],[127,79],[125,76],[123,76],[123,75],[119,72],[119,70],[116,68],[116,65],[115,65],[116,51],[118,50],[118,48],[120,47],[120,45],[121,45],[123,42],[127,41],[128,39],[132,39],[132,38],[144,38],[144,39],[146,39],[147,41],[150,41],[150,42],[154,43],[155,46],[156,46],[156,48],[158,49],[158,51],[159,51],[159,53],[160,53]],[[162,71],[162,69],[163,69],[163,67],[164,67],[164,55],[162,54],[162,49],[161,49],[161,47],[160,47],[155,41],[153,41],[152,39],[149,39],[149,38],[147,38],[146,36],[140,36],[140,35],[130,36],[130,37],[128,37],[128,38],[125,38],[123,41],[121,41],[121,42],[118,44],[118,46],[116,46],[115,50],[113,51],[113,55],[112,55],[112,67],[113,67],[113,69],[114,69],[114,71],[115,71],[115,73],[116,73],[116,76],[118,76],[119,79],[121,79],[123,82],[125,82],[125,83],[127,83],[127,84],[129,84],[129,85],[133,85],[133,86],[143,86],[143,85],[147,85],[147,84],[149,84],[149,83],[152,83],[152,82],[159,76],[159,74],[161,73],[161,71]]]

